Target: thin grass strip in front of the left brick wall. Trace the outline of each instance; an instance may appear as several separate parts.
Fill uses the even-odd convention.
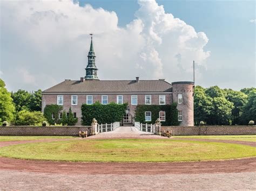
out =
[[[14,142],[17,140],[63,139],[70,136],[0,136],[0,142]]]

